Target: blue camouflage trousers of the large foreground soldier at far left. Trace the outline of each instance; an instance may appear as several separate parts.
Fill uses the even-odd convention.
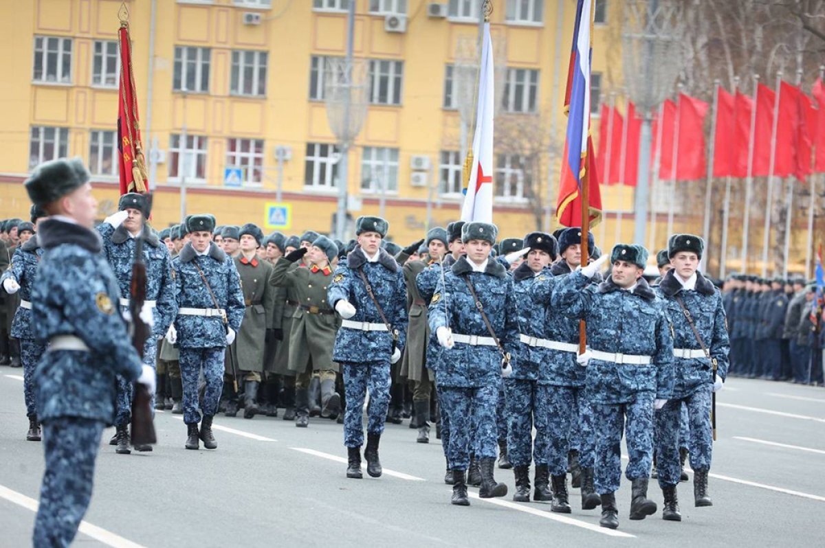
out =
[[[43,424],[45,471],[35,518],[35,548],[69,546],[92,499],[103,423],[60,417]]]

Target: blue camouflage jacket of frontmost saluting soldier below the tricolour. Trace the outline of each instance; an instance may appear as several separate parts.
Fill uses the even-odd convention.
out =
[[[650,356],[648,365],[614,363],[592,358],[587,365],[587,391],[603,404],[624,404],[637,392],[650,391],[658,399],[673,394],[672,326],[662,301],[640,278],[633,293],[612,279],[595,290],[580,272],[559,280],[552,303],[569,317],[587,321],[587,346],[601,352]]]

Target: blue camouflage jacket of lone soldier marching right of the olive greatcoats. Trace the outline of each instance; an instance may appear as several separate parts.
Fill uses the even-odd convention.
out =
[[[327,289],[327,302],[332,308],[344,299],[356,308],[351,321],[382,324],[375,303],[366,292],[359,270],[363,269],[370,282],[375,298],[380,302],[387,321],[393,330],[398,330],[396,348],[403,353],[407,337],[407,285],[401,267],[384,249],[379,250],[379,258],[370,263],[357,246],[347,255],[347,261],[338,265],[332,283]],[[332,359],[338,363],[367,363],[389,361],[392,357],[392,336],[387,331],[362,331],[341,327],[335,337]]]

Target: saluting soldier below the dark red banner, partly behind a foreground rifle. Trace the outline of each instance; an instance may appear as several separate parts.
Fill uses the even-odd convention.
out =
[[[144,194],[129,193],[120,196],[118,212],[107,217],[97,225],[103,240],[103,254],[109,261],[120,287],[120,308],[129,310],[130,286],[132,283],[132,265],[136,237],[144,228],[144,219],[148,217],[148,202]],[[152,333],[144,345],[144,363],[155,367],[158,354],[158,340],[166,334],[177,312],[174,285],[172,283],[172,259],[165,244],[152,232],[144,236],[144,262],[146,263],[146,302],[145,314],[153,316]],[[117,414],[115,415],[116,452],[129,454],[129,423],[132,410],[132,385],[125,379],[117,381]],[[152,394],[154,399],[154,394]],[[152,401],[154,406],[154,401]],[[151,445],[139,445],[138,451],[151,451]]]

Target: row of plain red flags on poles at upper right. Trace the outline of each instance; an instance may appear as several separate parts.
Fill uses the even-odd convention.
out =
[[[714,139],[714,177],[747,177],[754,107],[752,175],[771,174],[776,91],[759,84],[757,98],[718,88]],[[813,86],[813,101],[799,87],[780,82],[773,175],[804,180],[825,172],[825,85]],[[819,108],[816,108],[816,105]],[[661,180],[697,180],[707,176],[705,101],[680,93],[654,115],[651,167],[658,161]],[[661,124],[659,119],[662,119]],[[662,127],[660,136],[659,127]],[[601,106],[596,171],[606,185],[635,186],[639,176],[642,120],[628,102],[626,116],[615,106]],[[674,172],[675,171],[675,172]]]

